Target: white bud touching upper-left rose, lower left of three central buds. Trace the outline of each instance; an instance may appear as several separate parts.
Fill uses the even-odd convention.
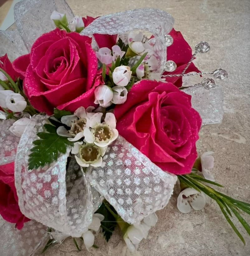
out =
[[[94,101],[95,104],[99,104],[100,106],[103,106],[103,107],[108,107],[112,104],[111,100],[113,99],[113,91],[109,86],[105,84],[99,85],[95,89],[94,94],[95,94],[95,101]]]

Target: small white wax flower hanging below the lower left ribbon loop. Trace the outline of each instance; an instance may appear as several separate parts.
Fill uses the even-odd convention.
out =
[[[89,225],[89,228],[88,228],[89,230],[87,230],[82,234],[84,245],[88,251],[89,251],[89,248],[94,245],[95,236],[93,232],[95,232],[95,234],[99,233],[101,221],[103,221],[103,219],[104,219],[104,216],[102,214],[94,213],[92,218],[92,223]]]

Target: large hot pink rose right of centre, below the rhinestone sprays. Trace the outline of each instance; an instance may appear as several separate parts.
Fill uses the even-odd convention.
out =
[[[162,170],[190,173],[201,126],[191,96],[172,83],[142,80],[114,110],[117,130]]]

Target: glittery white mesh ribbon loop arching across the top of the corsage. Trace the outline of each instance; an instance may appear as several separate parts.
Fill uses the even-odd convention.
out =
[[[159,61],[158,73],[162,73],[166,62],[166,44],[164,35],[173,28],[174,18],[167,12],[157,9],[143,8],[121,13],[103,15],[95,19],[81,34],[119,34],[123,40],[132,30],[147,31],[154,38],[150,44],[154,46],[154,55]]]

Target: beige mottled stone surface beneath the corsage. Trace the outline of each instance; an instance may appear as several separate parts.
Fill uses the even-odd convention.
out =
[[[230,196],[250,202],[250,2],[249,0],[68,0],[75,14],[99,16],[111,12],[142,7],[166,10],[175,18],[174,28],[180,30],[191,46],[204,40],[211,51],[199,56],[196,63],[204,71],[222,67],[229,78],[224,81],[224,119],[221,125],[201,129],[198,150],[214,151],[216,181],[226,186]],[[150,17],[149,17],[150,21]],[[158,223],[148,239],[139,246],[139,255],[250,255],[250,238],[237,225],[246,239],[244,247],[212,202],[201,211],[182,214],[176,208],[176,189],[168,206],[157,212]],[[249,216],[246,220],[250,223]],[[125,243],[115,230],[107,244],[101,235],[95,241],[99,249],[78,252],[71,239],[59,248],[51,248],[45,256],[117,256]]]

